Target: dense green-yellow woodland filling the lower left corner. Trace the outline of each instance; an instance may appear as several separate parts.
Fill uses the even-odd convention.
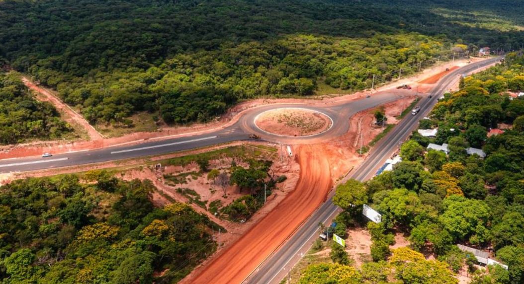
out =
[[[219,226],[182,203],[155,208],[152,190],[105,171],[0,187],[2,283],[181,279],[215,251]]]

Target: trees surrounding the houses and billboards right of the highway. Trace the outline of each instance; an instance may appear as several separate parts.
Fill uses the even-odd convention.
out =
[[[347,254],[333,244],[331,257],[339,265],[309,267],[301,282],[386,283],[393,277],[403,283],[456,283],[451,271],[464,265],[474,284],[524,282],[524,98],[508,93],[524,89],[522,66],[524,56],[510,53],[504,63],[466,77],[459,91],[445,94],[429,119],[421,120],[420,129],[438,128],[435,138],[413,132],[392,171],[337,187],[333,202],[345,211],[336,218],[336,234],[366,221],[363,204],[382,215],[381,223],[367,224],[373,262],[361,270],[346,266]],[[487,137],[497,127],[504,133]],[[429,143],[449,144],[449,155],[426,151]],[[467,147],[483,149],[486,156],[469,155]],[[409,235],[410,248],[390,251],[394,231]],[[475,256],[457,243],[492,249],[508,270],[477,271]],[[343,274],[333,272],[339,270]]]

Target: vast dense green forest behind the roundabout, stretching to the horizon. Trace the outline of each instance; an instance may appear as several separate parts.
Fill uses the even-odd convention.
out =
[[[519,48],[520,4],[10,0],[0,2],[0,62],[92,123],[130,126],[138,111],[206,121],[239,100],[369,88],[452,49]]]

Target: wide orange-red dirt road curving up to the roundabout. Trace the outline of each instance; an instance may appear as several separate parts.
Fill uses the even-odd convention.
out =
[[[313,213],[331,189],[328,158],[314,146],[306,145],[298,149],[297,159],[297,188],[236,243],[196,269],[196,276],[190,275],[181,283],[240,283]]]

